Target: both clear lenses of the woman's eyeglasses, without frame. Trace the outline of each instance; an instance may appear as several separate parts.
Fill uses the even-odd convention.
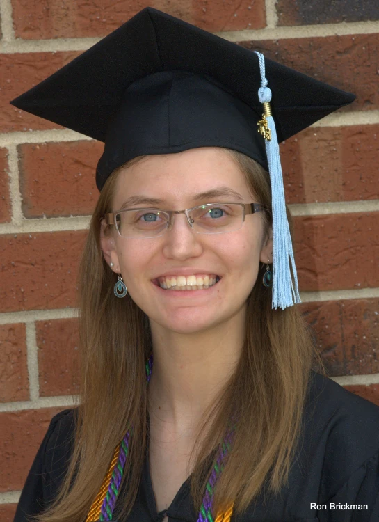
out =
[[[237,203],[196,207],[188,215],[197,234],[233,232],[243,223],[243,207]],[[118,212],[115,222],[122,237],[157,237],[166,232],[168,217],[158,209],[130,209]]]

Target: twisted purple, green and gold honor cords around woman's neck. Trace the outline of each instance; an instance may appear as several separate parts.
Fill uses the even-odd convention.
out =
[[[150,381],[150,375],[152,373],[153,356],[152,353],[146,361],[145,370],[147,382]],[[229,522],[233,512],[233,503],[229,505],[223,514],[218,514],[216,519],[212,516],[213,507],[213,491],[216,486],[216,482],[222,473],[225,466],[225,459],[232,443],[234,429],[236,425],[231,425],[225,441],[220,445],[218,452],[218,459],[213,467],[211,476],[207,482],[206,491],[202,499],[202,505],[200,513],[197,518],[197,522]],[[130,434],[129,434],[130,432]],[[90,511],[88,512],[86,522],[97,522],[97,521],[110,521],[112,520],[113,510],[115,509],[115,503],[120,492],[120,484],[122,475],[124,474],[125,462],[127,461],[127,455],[129,452],[129,440],[133,433],[133,429],[128,429],[127,434],[122,438],[120,444],[115,448],[111,465],[108,468],[108,472],[103,480],[102,487],[97,493],[95,500],[92,503]]]

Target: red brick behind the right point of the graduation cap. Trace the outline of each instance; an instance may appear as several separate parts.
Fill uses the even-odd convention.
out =
[[[341,111],[378,109],[378,66],[372,57],[378,56],[379,34],[288,38],[241,42],[241,45],[263,52],[267,58],[334,87],[355,93],[357,100]]]

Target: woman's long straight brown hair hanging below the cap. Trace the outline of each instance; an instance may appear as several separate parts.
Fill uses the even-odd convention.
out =
[[[271,208],[270,180],[264,168],[241,152],[223,150],[236,161],[252,195]],[[134,158],[123,167],[142,158]],[[40,522],[86,519],[114,448],[131,425],[134,432],[122,482],[127,480],[127,491],[122,509],[118,507],[120,519],[131,511],[138,491],[148,443],[145,360],[152,350],[150,324],[129,294],[124,299],[115,298],[117,278],[106,264],[99,242],[100,221],[112,210],[119,171],[108,177],[100,193],[81,259],[81,404],[76,409],[74,450],[54,504],[36,519]],[[292,235],[288,209],[287,215]],[[268,231],[270,212],[264,212],[264,223]],[[310,372],[325,374],[299,307],[271,308],[271,289],[262,285],[264,270],[264,266],[259,269],[248,296],[240,361],[204,414],[191,453],[191,457],[196,455],[191,495],[197,512],[213,467],[210,457],[225,436],[232,413],[239,420],[227,466],[213,496],[214,513],[234,501],[234,513],[241,514],[263,491],[268,478],[268,494],[279,492],[287,484]]]

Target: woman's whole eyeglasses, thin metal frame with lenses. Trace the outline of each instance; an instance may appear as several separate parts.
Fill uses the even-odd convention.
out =
[[[171,228],[173,214],[186,214],[188,224],[196,234],[225,234],[239,230],[245,215],[265,209],[260,203],[207,203],[184,210],[118,210],[108,212],[104,218],[107,225],[115,225],[121,237],[149,239],[163,236]]]

